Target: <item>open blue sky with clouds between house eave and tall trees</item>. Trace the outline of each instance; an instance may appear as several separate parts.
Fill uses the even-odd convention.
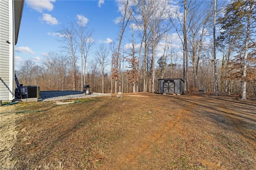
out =
[[[94,30],[94,47],[116,41],[119,27],[115,24],[121,16],[114,0],[25,0],[18,43],[15,48],[15,68],[32,59],[40,65],[44,54],[59,52],[56,30],[74,22],[85,20],[88,30]]]

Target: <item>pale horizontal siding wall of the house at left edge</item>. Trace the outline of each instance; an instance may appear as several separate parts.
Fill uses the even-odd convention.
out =
[[[14,39],[12,11],[12,0],[0,0],[0,100],[3,101],[12,100],[14,93]],[[10,42],[10,44],[6,41]]]

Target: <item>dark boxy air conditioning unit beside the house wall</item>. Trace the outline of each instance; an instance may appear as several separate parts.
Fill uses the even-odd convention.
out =
[[[39,86],[22,86],[20,87],[20,95],[22,99],[40,98]]]

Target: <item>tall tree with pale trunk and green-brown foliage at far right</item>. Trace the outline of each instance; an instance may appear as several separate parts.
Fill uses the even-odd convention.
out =
[[[250,52],[250,44],[254,32],[254,22],[256,17],[256,1],[255,0],[233,0],[226,8],[223,18],[220,19],[224,35],[233,37],[235,39],[236,52],[239,53],[242,59],[240,61],[243,66],[242,69],[242,99],[246,99],[246,73],[248,67],[248,51]],[[234,40],[234,39],[233,39]],[[253,41],[252,41],[253,42]],[[234,64],[234,62],[232,62]],[[231,67],[232,68],[232,67]],[[233,65],[236,70],[236,65]]]

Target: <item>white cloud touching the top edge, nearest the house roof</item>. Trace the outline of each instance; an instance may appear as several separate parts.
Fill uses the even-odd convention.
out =
[[[25,2],[30,8],[42,13],[43,10],[52,11],[54,7],[52,2],[55,0],[26,0]]]

